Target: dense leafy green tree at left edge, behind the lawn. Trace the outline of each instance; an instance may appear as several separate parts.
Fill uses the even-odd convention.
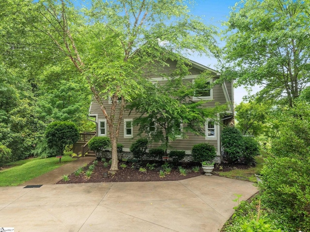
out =
[[[30,90],[16,69],[0,63],[0,141],[11,149],[13,160],[32,155],[45,128]]]

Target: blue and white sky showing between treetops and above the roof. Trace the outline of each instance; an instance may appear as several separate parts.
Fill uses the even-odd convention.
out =
[[[89,0],[76,0],[76,2],[80,3],[89,2]],[[220,29],[221,23],[223,21],[228,20],[229,13],[231,11],[231,7],[235,5],[239,0],[195,0],[195,3],[190,7],[191,14],[196,15],[202,18],[205,24],[212,24],[217,26]],[[218,39],[219,40],[219,39]],[[223,42],[220,42],[221,46],[223,46]],[[192,61],[201,63],[204,66],[216,69],[217,60],[210,57],[205,56],[192,56],[187,57]],[[257,89],[254,89],[254,93]],[[240,104],[242,101],[242,97],[246,95],[247,92],[243,87],[238,87],[234,89],[234,104]]]

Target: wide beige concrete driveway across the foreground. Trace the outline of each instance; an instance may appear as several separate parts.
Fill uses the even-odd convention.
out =
[[[0,227],[15,232],[217,232],[233,214],[234,194],[247,200],[256,192],[250,182],[218,176],[0,187]]]

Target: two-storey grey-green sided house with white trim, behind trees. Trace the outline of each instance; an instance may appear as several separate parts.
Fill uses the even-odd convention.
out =
[[[212,79],[210,81],[215,81],[220,77],[220,73],[217,71],[203,66],[197,62],[190,61],[190,73],[191,75],[184,77],[187,81],[195,81],[195,78],[198,77],[203,71],[208,70]],[[171,72],[171,70],[176,68],[176,62],[170,62],[170,65],[164,67],[167,73]],[[152,81],[164,81],[163,77],[151,77]],[[193,101],[210,100],[205,104],[205,107],[214,107],[216,103],[227,104],[227,110],[220,114],[218,120],[220,124],[214,123],[214,121],[210,121],[206,119],[205,128],[204,128],[204,136],[196,136],[194,134],[187,134],[188,138],[186,139],[176,139],[172,141],[170,145],[175,150],[184,150],[186,154],[191,154],[191,149],[194,144],[207,142],[213,144],[217,150],[217,161],[221,161],[221,141],[220,141],[220,133],[223,124],[230,124],[233,121],[233,83],[225,81],[222,84],[215,85],[210,90],[204,90],[200,94],[200,97],[193,97]],[[111,104],[109,100],[106,100],[106,104]],[[96,136],[109,136],[109,128],[107,125],[107,121],[101,111],[99,104],[96,101],[93,101],[90,106],[89,116],[93,117],[93,121],[96,122]],[[122,143],[124,145],[124,152],[129,152],[129,148],[131,144],[137,139],[136,135],[138,133],[138,128],[132,126],[132,121],[134,119],[134,114],[128,114],[128,112],[124,112],[123,115],[123,123],[121,124],[121,132],[118,139],[118,143]]]

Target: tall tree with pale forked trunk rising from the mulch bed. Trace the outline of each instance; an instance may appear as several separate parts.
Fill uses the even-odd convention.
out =
[[[57,48],[50,57],[69,59],[86,78],[109,125],[111,172],[118,170],[117,139],[125,102],[145,93],[145,74],[158,71],[150,67],[168,65],[166,61],[171,59],[183,60],[179,67],[184,69],[186,61],[178,54],[218,52],[214,29],[191,17],[184,0],[93,0],[84,14],[66,0],[29,0],[22,7],[19,15],[26,19],[17,21],[18,28],[31,31],[31,42],[41,44],[37,51],[46,53],[41,39],[48,49]],[[24,22],[30,22],[27,28],[31,30],[23,30]],[[34,39],[35,33],[39,35]],[[31,43],[27,45],[35,49]],[[104,104],[108,98],[110,106]]]

